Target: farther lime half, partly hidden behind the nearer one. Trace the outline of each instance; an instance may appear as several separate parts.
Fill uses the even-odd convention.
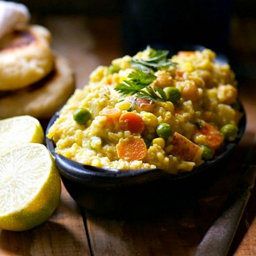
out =
[[[0,153],[24,142],[44,143],[40,122],[30,115],[0,120]]]

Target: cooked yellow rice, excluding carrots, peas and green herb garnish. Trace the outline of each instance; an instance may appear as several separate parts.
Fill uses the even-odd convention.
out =
[[[104,108],[120,108],[122,113],[128,112],[131,103],[120,101],[123,96],[115,87],[129,80],[128,75],[135,71],[130,61],[147,60],[150,51],[152,49],[147,48],[134,57],[124,56],[112,61],[112,65],[120,69],[113,74],[109,74],[108,67],[96,68],[90,75],[88,85],[83,89],[76,89],[47,134],[55,142],[57,154],[97,167],[162,168],[168,173],[177,174],[191,171],[202,164],[202,151],[193,161],[186,161],[179,155],[172,154],[173,136],[163,140],[156,134],[160,123],[168,123],[173,132],[199,146],[208,146],[206,136],[195,133],[199,122],[207,122],[217,129],[225,124],[237,126],[240,114],[231,107],[237,97],[234,74],[228,64],[218,64],[215,53],[209,49],[190,54],[181,52],[171,58],[177,65],[159,68],[154,72],[156,79],[152,87],[176,87],[181,91],[182,98],[176,104],[171,101],[156,101],[150,112],[143,109],[132,110],[144,122],[142,134],[122,130],[118,122],[106,125],[107,118],[99,115],[100,111]],[[85,125],[78,124],[73,118],[74,111],[81,107],[87,108],[92,115]],[[92,136],[99,136],[103,141],[96,142],[93,149],[90,145]],[[134,161],[119,158],[116,145],[120,140],[133,136],[151,141],[147,155],[142,160]]]

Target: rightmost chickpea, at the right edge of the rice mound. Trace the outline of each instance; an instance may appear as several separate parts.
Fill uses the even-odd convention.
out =
[[[230,85],[220,85],[217,89],[217,95],[220,102],[231,105],[236,101],[237,89]]]

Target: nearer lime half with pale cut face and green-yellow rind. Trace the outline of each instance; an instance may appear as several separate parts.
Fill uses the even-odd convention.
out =
[[[52,215],[61,179],[47,148],[23,143],[0,155],[0,229],[31,229]]]

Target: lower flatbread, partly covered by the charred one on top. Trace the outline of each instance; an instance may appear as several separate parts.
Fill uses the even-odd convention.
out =
[[[66,58],[56,55],[54,70],[41,81],[0,93],[0,119],[16,115],[50,118],[74,92],[74,75]]]

